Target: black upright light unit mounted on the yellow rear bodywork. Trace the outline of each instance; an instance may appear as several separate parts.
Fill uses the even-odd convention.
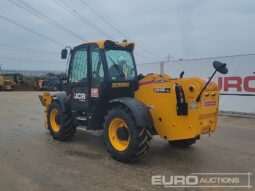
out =
[[[188,115],[188,104],[185,101],[184,90],[181,85],[175,85],[177,115]]]

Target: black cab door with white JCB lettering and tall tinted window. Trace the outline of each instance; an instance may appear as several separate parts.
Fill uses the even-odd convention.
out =
[[[69,89],[71,90],[71,109],[77,112],[89,110],[89,54],[88,46],[73,49],[68,71]]]

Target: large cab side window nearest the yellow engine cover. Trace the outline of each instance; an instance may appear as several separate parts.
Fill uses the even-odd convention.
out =
[[[133,80],[136,77],[132,53],[126,50],[107,50],[106,59],[110,80]]]

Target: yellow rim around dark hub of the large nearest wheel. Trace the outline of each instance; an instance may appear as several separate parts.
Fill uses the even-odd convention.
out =
[[[130,135],[128,136],[127,140],[119,139],[117,135],[117,131],[120,128],[127,128],[127,124],[123,119],[115,118],[111,121],[109,125],[109,139],[112,146],[118,151],[124,151],[127,149],[129,145]],[[128,129],[128,128],[127,128]]]

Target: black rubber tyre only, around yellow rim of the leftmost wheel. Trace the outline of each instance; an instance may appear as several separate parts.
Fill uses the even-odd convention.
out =
[[[57,109],[60,116],[60,130],[56,133],[51,128],[50,123],[50,113],[52,109]],[[70,112],[62,112],[61,106],[58,102],[54,101],[48,108],[48,116],[47,116],[48,129],[50,131],[51,136],[58,141],[67,141],[70,140],[71,137],[74,136],[75,126],[73,124],[73,119]]]

